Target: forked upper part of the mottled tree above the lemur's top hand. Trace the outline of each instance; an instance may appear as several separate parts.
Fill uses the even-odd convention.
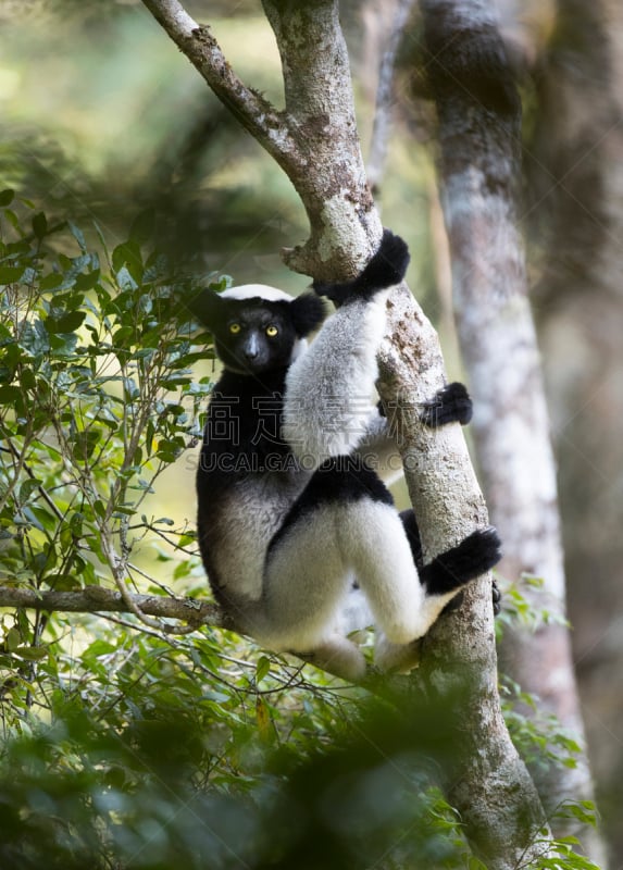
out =
[[[319,281],[354,277],[377,247],[382,227],[361,157],[335,0],[263,0],[283,61],[285,112],[240,82],[210,29],[177,0],[144,4],[292,182],[311,236],[285,251],[287,264]]]

